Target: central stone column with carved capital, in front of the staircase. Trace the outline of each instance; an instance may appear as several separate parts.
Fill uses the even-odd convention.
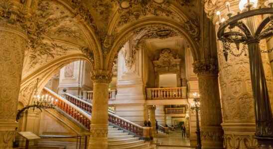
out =
[[[93,75],[92,79],[94,94],[88,149],[108,149],[108,85],[111,75],[99,72]]]

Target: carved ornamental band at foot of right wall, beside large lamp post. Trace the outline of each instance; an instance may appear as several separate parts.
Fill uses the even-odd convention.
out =
[[[250,149],[256,145],[257,140],[253,135],[224,135],[225,149]]]

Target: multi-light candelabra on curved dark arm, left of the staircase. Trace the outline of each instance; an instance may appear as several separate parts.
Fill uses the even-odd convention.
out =
[[[58,99],[55,99],[54,97],[51,97],[48,94],[41,95],[38,94],[38,83],[39,78],[37,78],[36,86],[35,86],[35,93],[33,96],[33,102],[31,105],[27,105],[26,107],[18,110],[16,115],[16,121],[20,119],[21,113],[24,112],[27,109],[32,109],[33,111],[35,109],[39,109],[42,112],[42,109],[53,109],[55,107],[55,103],[58,102]]]

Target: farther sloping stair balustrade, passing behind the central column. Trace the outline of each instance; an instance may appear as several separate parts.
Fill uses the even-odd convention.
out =
[[[86,109],[87,112],[92,113],[92,104],[84,101],[83,99],[77,98],[67,92],[62,93],[65,98],[70,101],[71,103],[75,104],[79,108]],[[140,125],[137,125],[134,122],[131,122],[129,120],[126,120],[118,115],[115,115],[113,111],[108,110],[108,121],[114,125],[117,125],[125,130],[128,130],[138,136],[143,135],[143,127]]]

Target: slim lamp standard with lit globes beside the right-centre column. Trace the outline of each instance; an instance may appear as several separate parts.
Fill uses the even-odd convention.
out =
[[[200,133],[200,126],[199,126],[199,110],[200,110],[200,102],[199,102],[199,98],[200,95],[195,92],[193,93],[193,103],[191,103],[191,109],[195,110],[195,115],[196,115],[196,139],[197,139],[197,144],[196,144],[196,148],[195,149],[201,149],[202,145],[201,145],[201,133]]]

